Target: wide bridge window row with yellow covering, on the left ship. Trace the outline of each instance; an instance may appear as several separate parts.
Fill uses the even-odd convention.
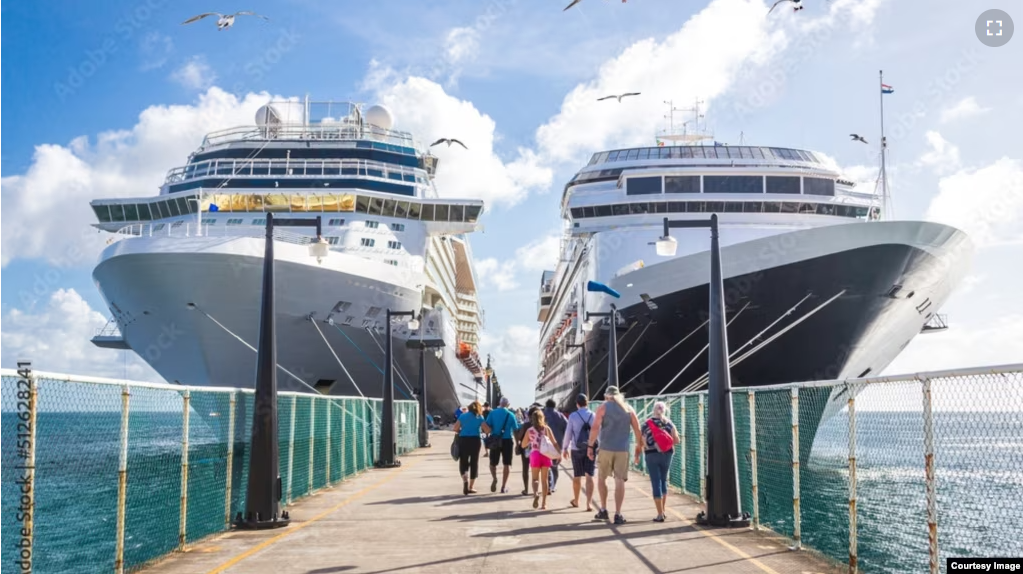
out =
[[[202,202],[202,204],[201,204]],[[154,221],[194,214],[198,206],[204,212],[273,212],[328,213],[355,212],[417,221],[450,221],[476,223],[483,206],[419,204],[385,200],[354,193],[284,194],[284,193],[210,193],[154,200],[138,204],[93,205],[100,223]]]

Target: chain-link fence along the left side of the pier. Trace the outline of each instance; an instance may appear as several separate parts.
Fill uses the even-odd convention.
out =
[[[244,513],[253,391],[0,374],[4,570],[135,571]],[[279,393],[281,504],[371,467],[382,407]],[[416,448],[418,404],[395,426]]]

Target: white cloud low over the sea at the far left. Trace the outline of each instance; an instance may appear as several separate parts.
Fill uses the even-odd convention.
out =
[[[95,347],[91,339],[104,324],[103,315],[75,290],[54,291],[38,313],[11,309],[4,314],[2,362],[10,366],[31,359],[34,368],[51,372],[163,381],[134,353],[129,353],[126,372],[123,352]]]

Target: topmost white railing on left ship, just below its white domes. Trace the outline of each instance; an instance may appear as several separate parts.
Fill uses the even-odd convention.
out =
[[[411,134],[385,130],[371,124],[279,124],[275,126],[239,126],[211,132],[203,139],[198,151],[235,141],[298,140],[298,141],[360,141],[371,140],[403,147],[416,147]]]

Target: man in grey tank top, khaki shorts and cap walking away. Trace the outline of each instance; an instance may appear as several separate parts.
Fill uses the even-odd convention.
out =
[[[615,524],[625,524],[622,504],[625,502],[625,481],[629,480],[629,433],[635,433],[636,456],[642,452],[642,434],[639,420],[618,387],[608,387],[604,393],[605,402],[596,409],[593,429],[589,433],[586,455],[596,460],[597,491],[601,494],[601,510],[593,517],[609,520],[608,478],[615,478]],[[599,453],[596,452],[599,446]]]

